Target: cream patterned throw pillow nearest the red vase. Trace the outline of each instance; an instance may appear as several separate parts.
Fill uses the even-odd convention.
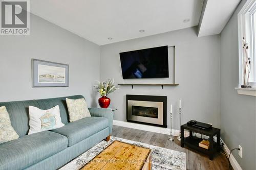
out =
[[[82,99],[68,99],[66,98],[68,110],[69,110],[69,121],[75,122],[84,117],[91,117],[88,110],[86,100]]]

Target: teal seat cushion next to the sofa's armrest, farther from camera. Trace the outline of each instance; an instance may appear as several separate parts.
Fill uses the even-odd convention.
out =
[[[108,125],[109,120],[107,118],[86,117],[52,131],[66,136],[69,140],[69,147],[71,147],[73,144],[105,129]]]

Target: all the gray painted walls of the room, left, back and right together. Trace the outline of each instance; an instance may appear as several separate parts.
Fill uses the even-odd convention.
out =
[[[234,90],[239,83],[238,10],[221,37],[197,37],[197,28],[189,28],[101,47],[31,15],[30,36],[0,37],[0,101],[82,94],[89,106],[96,106],[98,94],[92,88],[94,80],[114,78],[116,84],[172,83],[175,71],[176,83],[180,84],[177,87],[166,86],[162,90],[160,86],[135,86],[134,89],[120,86],[121,90],[110,95],[111,107],[118,108],[114,118],[126,121],[125,94],[166,95],[167,112],[172,103],[174,128],[178,129],[178,101],[181,99],[182,123],[196,119],[221,127],[222,139],[229,149],[242,145],[243,158],[234,152],[242,168],[256,169],[256,98]],[[120,52],[161,45],[176,46],[175,54],[174,48],[169,48],[170,78],[122,79]],[[69,64],[69,87],[32,88],[32,58]]]

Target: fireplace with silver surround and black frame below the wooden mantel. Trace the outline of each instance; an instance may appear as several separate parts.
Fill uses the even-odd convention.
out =
[[[166,128],[167,96],[126,95],[127,122]]]

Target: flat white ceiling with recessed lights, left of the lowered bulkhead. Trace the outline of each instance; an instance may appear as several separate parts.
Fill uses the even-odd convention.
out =
[[[31,13],[103,45],[197,26],[203,0],[33,0],[30,6]]]

